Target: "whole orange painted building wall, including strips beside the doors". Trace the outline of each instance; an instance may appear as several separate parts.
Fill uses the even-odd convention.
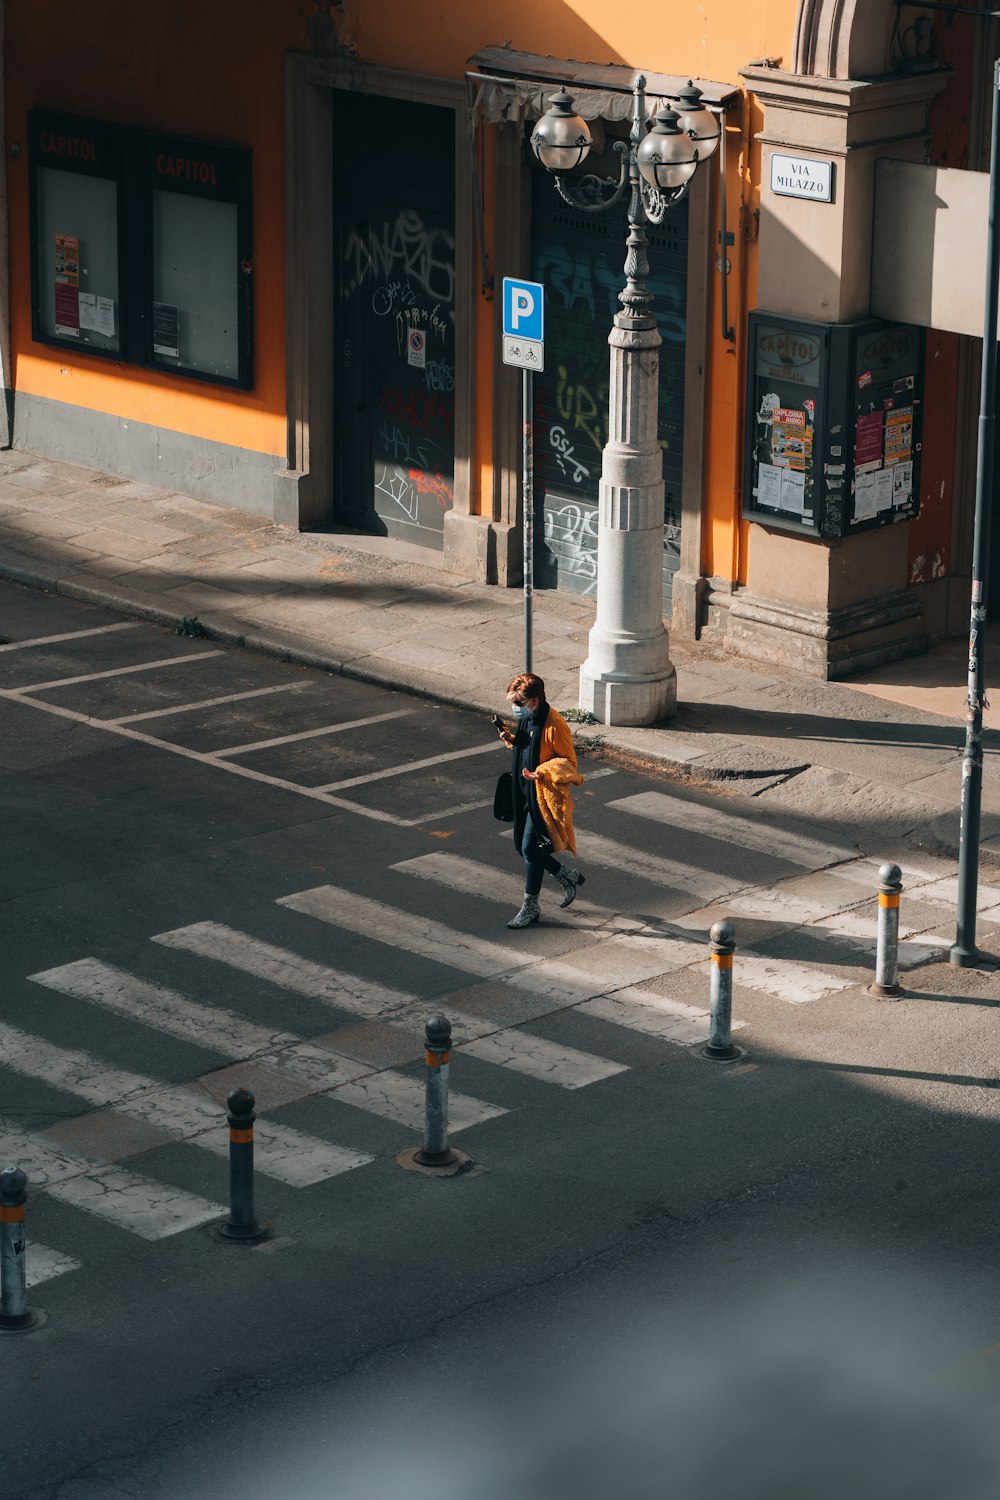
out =
[[[18,388],[261,453],[285,452],[283,54],[306,50],[306,18],[316,9],[312,0],[171,0],[154,6],[133,0],[7,0],[6,56],[34,62],[9,69],[7,141],[25,142],[27,111],[37,105],[237,141],[253,150],[255,388],[232,392],[31,344],[27,154],[9,164]],[[669,6],[633,8],[615,0],[342,0],[331,15],[340,44],[361,62],[409,72],[460,78],[469,56],[510,40],[520,51],[619,62],[736,86],[748,62],[768,56],[789,64],[796,9],[796,0],[672,0]],[[760,154],[748,146],[753,136],[744,110],[730,112],[727,132],[729,216],[738,232],[729,282],[736,345],[717,332],[720,286],[718,276],[712,278],[705,562],[709,573],[724,576],[733,576],[739,558],[739,330],[754,266],[753,246],[739,237],[739,201],[759,182]],[[495,321],[495,306],[480,297],[474,474],[484,510]]]

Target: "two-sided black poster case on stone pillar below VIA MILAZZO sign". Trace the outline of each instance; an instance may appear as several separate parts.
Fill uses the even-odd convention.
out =
[[[921,504],[924,330],[751,312],[744,516],[844,537]]]

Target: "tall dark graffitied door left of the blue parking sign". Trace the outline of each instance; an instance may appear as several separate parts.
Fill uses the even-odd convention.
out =
[[[454,112],[337,93],[333,516],[426,548],[454,501]]]

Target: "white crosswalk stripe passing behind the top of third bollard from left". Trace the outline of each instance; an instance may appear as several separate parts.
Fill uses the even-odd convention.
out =
[[[250,938],[249,933],[237,933],[220,922],[196,922],[192,927],[180,927],[172,933],[160,933],[154,942],[162,942],[171,948],[186,948],[189,952],[198,952],[204,958],[216,958],[283,988],[298,988],[300,993],[333,1005],[336,1010],[351,1011],[369,1020],[378,1018],[390,1026],[406,1026],[415,1038],[417,1048],[420,1048],[423,1024],[430,1006],[426,1000],[418,1000],[414,994],[405,994],[400,990],[385,990],[381,986],[373,987],[373,993],[367,993],[364,988],[366,981],[355,975],[325,969],[322,964],[306,964],[298,954],[286,948],[262,944]],[[379,1002],[384,1004],[379,1005]],[[609,1062],[604,1058],[592,1058],[570,1047],[559,1047],[540,1036],[528,1036],[520,1032],[516,1040],[501,1047],[498,1042],[487,1040],[489,1034],[498,1030],[496,1023],[456,1011],[448,1011],[448,1016],[456,1032],[459,1029],[465,1032],[465,1036],[456,1040],[457,1047],[468,1050],[472,1056],[483,1060],[510,1068],[514,1072],[523,1072],[547,1083],[558,1083],[562,1088],[579,1089],[585,1083],[594,1083],[597,1078],[610,1077],[613,1072],[621,1071],[618,1064]],[[277,1066],[283,1066],[283,1052],[277,1054]],[[258,1060],[261,1059],[258,1058]],[[291,1071],[294,1071],[294,1062]],[[372,1072],[373,1070],[360,1070],[355,1066],[355,1071],[360,1074],[363,1071]],[[340,1084],[337,1084],[337,1090],[339,1100],[346,1098],[340,1092]]]

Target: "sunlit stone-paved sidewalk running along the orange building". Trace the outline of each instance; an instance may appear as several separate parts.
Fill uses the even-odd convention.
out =
[[[0,453],[0,576],[222,642],[493,712],[523,664],[523,594],[354,532],[300,534],[93,470]],[[577,702],[594,602],[543,591],[534,669]],[[1000,670],[1000,632],[988,663]],[[651,729],[580,728],[592,748],[720,780],[762,806],[864,830],[870,849],[955,852],[964,648],[864,682],[817,682],[672,640],[678,716]],[[946,712],[928,712],[927,704]],[[982,862],[1000,867],[1000,711],[987,730]],[[990,718],[987,720],[990,723]]]

